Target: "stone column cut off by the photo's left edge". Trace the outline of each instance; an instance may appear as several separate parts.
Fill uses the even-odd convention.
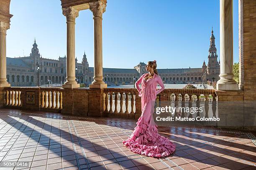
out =
[[[6,31],[10,24],[0,21],[0,87],[10,87],[6,78]]]

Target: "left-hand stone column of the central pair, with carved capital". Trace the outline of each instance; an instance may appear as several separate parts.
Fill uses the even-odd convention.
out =
[[[63,15],[67,18],[67,81],[63,88],[78,88],[75,80],[75,20],[79,10],[73,7],[62,8]]]

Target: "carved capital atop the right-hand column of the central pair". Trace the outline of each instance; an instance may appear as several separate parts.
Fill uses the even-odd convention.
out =
[[[96,2],[89,2],[89,6],[94,18],[102,19],[102,14],[105,12],[107,4],[98,0]]]

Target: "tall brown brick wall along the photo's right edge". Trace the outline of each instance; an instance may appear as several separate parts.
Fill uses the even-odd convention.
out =
[[[256,1],[239,0],[239,83],[244,90],[244,128],[256,126]]]

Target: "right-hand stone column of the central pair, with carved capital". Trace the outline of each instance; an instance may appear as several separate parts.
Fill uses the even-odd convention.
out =
[[[89,2],[94,20],[94,77],[90,88],[106,88],[103,79],[102,67],[102,14],[105,12],[106,3],[102,1]]]

